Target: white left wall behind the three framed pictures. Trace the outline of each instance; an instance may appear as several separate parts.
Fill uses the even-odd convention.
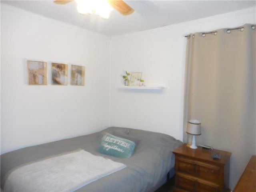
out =
[[[88,134],[109,124],[110,38],[1,4],[1,154]],[[48,62],[48,85],[28,86],[27,60]],[[69,65],[51,85],[51,62]],[[70,65],[86,67],[70,86]]]

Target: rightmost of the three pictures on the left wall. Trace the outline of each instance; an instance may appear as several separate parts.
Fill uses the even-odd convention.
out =
[[[78,65],[71,65],[70,85],[84,86],[85,67]]]

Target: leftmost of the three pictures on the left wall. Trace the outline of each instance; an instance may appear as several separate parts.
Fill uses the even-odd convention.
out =
[[[27,61],[28,85],[47,85],[47,63]]]

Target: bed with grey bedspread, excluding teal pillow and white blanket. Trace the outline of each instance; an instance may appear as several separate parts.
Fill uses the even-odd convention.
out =
[[[136,145],[131,156],[120,158],[99,153],[99,144],[106,134],[134,142]],[[98,178],[86,185],[79,186],[75,191],[155,191],[174,175],[175,162],[172,151],[181,144],[180,140],[176,140],[166,134],[131,128],[109,127],[93,134],[14,150],[1,155],[1,191],[15,191],[12,189],[12,182],[14,183],[15,181],[10,179],[10,175],[14,170],[60,154],[69,154],[69,152],[78,149],[89,152],[94,156],[104,157],[104,159],[124,164],[125,168]],[[23,174],[18,175],[24,177]],[[70,174],[70,177],[71,175],[76,174]],[[167,178],[167,175],[169,178]],[[10,186],[5,186],[6,181],[8,181]],[[31,183],[30,180],[22,182],[22,185],[25,186]],[[19,191],[17,189],[16,191]],[[34,189],[28,190],[28,188],[26,190],[34,191]],[[42,189],[38,188],[38,191],[42,191]]]

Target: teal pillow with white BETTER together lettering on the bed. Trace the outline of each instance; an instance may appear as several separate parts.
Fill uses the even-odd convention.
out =
[[[98,152],[114,157],[127,158],[132,156],[134,148],[135,143],[133,141],[106,133],[100,141]]]

